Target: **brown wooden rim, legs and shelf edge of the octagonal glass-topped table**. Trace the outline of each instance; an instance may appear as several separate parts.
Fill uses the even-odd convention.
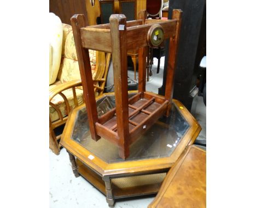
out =
[[[113,95],[113,93],[107,93],[106,95]],[[97,97],[97,99],[100,99],[102,96],[104,96],[104,94]],[[65,126],[60,142],[60,144],[69,152],[74,175],[76,177],[82,175],[99,191],[105,194],[109,205],[113,205],[115,199],[118,198],[157,193],[160,185],[147,187],[146,189],[133,188],[130,189],[129,192],[124,191],[123,193],[115,193],[113,191],[112,179],[135,175],[167,173],[178,160],[182,152],[189,145],[194,143],[194,140],[201,131],[201,126],[181,102],[173,100],[173,103],[190,127],[170,157],[118,163],[104,162],[92,152],[83,148],[83,146],[71,139],[77,113],[80,109],[84,108],[84,105],[74,108],[68,117],[67,125]],[[93,160],[90,160],[90,155],[94,157]]]

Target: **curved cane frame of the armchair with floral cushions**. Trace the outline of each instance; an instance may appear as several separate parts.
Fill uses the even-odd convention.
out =
[[[98,73],[95,76],[96,78],[94,78],[95,83],[98,83],[97,85],[94,84],[95,95],[103,94],[106,78],[108,74],[110,56],[111,56],[110,53],[104,53],[104,52],[98,52],[98,51],[96,52],[96,68],[98,67],[101,69],[97,70]],[[54,108],[55,112],[59,117],[57,120],[51,121],[51,116],[50,116],[50,122],[49,122],[50,149],[56,155],[60,154],[59,139],[61,138],[62,133],[56,136],[55,129],[57,127],[65,125],[68,115],[72,111],[72,109],[74,107],[81,105],[84,102],[83,90],[81,88],[82,88],[81,79],[78,79],[74,81],[69,81],[67,83],[58,84],[54,88],[51,88],[49,91],[49,106]],[[52,102],[56,96],[61,96],[63,99],[63,102],[58,103],[58,105]],[[51,113],[52,112],[50,111],[50,114]]]

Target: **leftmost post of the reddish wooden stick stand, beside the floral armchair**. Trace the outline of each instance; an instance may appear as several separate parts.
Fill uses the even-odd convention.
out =
[[[88,120],[91,131],[91,138],[100,139],[96,133],[95,123],[98,122],[98,113],[94,94],[94,82],[92,81],[91,64],[89,50],[83,48],[82,39],[80,38],[80,28],[88,26],[87,19],[84,15],[74,15],[71,17],[71,25],[74,34],[75,48],[77,50],[77,58],[79,64],[80,75],[84,90],[84,100],[86,109],[88,110]],[[85,60],[85,61],[84,61]]]

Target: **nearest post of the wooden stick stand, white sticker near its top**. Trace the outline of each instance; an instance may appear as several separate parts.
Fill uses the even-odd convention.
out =
[[[129,156],[126,17],[120,14],[111,15],[109,23],[114,71],[117,132],[119,137],[119,156],[124,159]]]

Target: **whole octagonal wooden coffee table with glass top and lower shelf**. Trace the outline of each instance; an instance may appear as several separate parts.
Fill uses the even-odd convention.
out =
[[[129,96],[135,94],[133,91]],[[115,107],[114,94],[103,94],[96,103],[100,116]],[[123,160],[117,146],[108,140],[91,139],[82,105],[69,114],[60,144],[69,154],[74,175],[82,175],[113,206],[115,199],[158,193],[168,170],[200,131],[195,118],[173,99],[170,117],[160,118],[130,146],[130,156]]]

